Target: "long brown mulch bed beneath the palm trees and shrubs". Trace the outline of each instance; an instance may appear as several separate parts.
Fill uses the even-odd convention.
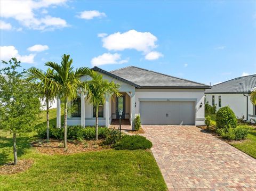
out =
[[[31,146],[36,147],[37,151],[44,154],[61,154],[68,155],[74,153],[101,151],[110,148],[109,146],[102,145],[103,140],[83,140],[79,142],[74,140],[67,142],[67,151],[63,148],[63,140],[50,139],[50,142],[46,140],[36,141],[31,143]]]

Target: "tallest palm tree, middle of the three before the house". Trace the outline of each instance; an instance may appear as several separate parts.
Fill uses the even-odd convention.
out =
[[[52,68],[54,72],[51,79],[54,83],[51,88],[58,89],[57,96],[64,101],[64,148],[67,150],[67,106],[68,102],[77,97],[77,89],[85,88],[85,83],[81,81],[81,77],[91,75],[91,70],[87,67],[81,67],[73,70],[71,66],[72,59],[70,55],[62,56],[61,64],[55,62],[46,62],[45,65]],[[56,87],[56,88],[55,88]]]

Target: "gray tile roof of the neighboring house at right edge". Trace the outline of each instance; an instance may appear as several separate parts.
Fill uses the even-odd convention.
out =
[[[205,90],[206,94],[212,93],[250,93],[256,88],[256,74],[231,79],[211,86]]]

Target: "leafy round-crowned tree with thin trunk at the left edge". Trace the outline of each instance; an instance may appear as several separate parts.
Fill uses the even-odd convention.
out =
[[[25,71],[18,72],[20,61],[12,58],[9,67],[0,70],[0,129],[13,134],[14,165],[17,164],[16,137],[31,131],[40,113],[41,103],[36,87],[24,80]]]

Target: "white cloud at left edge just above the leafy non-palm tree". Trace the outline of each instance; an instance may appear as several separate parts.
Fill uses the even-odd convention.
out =
[[[20,55],[14,46],[0,46],[0,60],[8,61],[12,57],[24,63],[34,63],[35,54]]]

